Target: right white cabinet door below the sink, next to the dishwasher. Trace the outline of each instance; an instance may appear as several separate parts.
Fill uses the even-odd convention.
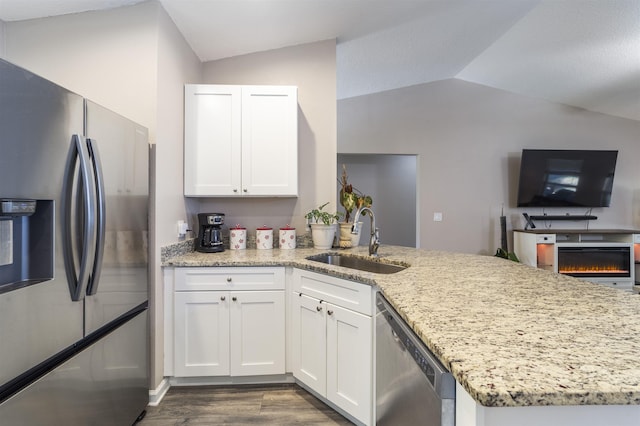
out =
[[[326,309],[327,399],[364,424],[371,424],[371,317],[331,304]]]

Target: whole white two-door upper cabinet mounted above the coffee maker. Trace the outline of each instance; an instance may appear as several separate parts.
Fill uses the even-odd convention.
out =
[[[297,88],[185,85],[184,195],[296,197]]]

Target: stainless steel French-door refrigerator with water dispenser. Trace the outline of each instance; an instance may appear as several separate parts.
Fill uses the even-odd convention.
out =
[[[148,161],[145,128],[0,60],[0,424],[144,414]]]

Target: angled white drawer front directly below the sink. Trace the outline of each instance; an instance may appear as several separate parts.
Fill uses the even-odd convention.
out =
[[[293,291],[361,314],[372,315],[373,312],[374,293],[371,286],[367,284],[294,269]]]

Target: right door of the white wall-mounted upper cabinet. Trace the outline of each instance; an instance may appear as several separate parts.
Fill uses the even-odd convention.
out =
[[[297,88],[243,86],[242,192],[298,195]]]

